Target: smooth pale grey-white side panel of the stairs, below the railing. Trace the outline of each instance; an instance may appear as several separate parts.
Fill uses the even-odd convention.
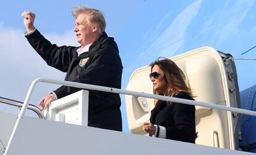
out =
[[[252,154],[24,116],[6,155]]]

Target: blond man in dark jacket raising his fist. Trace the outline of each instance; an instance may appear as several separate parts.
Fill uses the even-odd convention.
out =
[[[106,22],[99,10],[74,7],[74,32],[80,47],[56,46],[36,30],[35,14],[22,13],[25,37],[49,66],[66,72],[66,81],[121,88],[122,63],[114,38],[105,33]],[[62,85],[43,97],[39,105],[46,109],[51,101],[81,89]],[[88,126],[122,131],[121,99],[116,93],[89,90]]]

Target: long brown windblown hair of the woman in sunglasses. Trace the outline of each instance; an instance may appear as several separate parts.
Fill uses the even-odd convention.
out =
[[[191,98],[194,97],[191,89],[187,87],[186,82],[182,78],[181,69],[176,65],[176,63],[168,58],[156,60],[150,64],[151,71],[155,65],[158,65],[159,68],[164,72],[164,80],[168,84],[169,97],[172,97],[179,92],[186,92]],[[157,95],[163,95],[163,92],[159,92],[158,90],[154,90],[154,93]]]

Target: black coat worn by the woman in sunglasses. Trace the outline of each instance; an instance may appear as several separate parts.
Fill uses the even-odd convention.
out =
[[[186,92],[173,97],[193,100]],[[166,128],[166,138],[195,143],[195,106],[182,103],[158,101],[151,111],[150,122]]]

